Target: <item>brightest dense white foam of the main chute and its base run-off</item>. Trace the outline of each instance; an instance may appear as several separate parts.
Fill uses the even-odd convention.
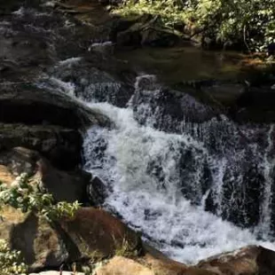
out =
[[[86,167],[106,181],[114,182],[106,205],[115,208],[124,220],[136,230],[161,242],[160,248],[174,259],[196,263],[210,255],[230,251],[250,244],[275,248],[271,243],[256,240],[248,230],[223,221],[193,206],[178,194],[177,149],[199,148],[200,143],[185,135],[167,134],[150,127],[140,127],[129,109],[120,109],[106,103],[90,104],[115,122],[114,130],[90,129],[84,142]],[[95,133],[97,140],[107,143],[106,157],[95,164]],[[157,177],[148,174],[152,160],[161,161],[164,185]],[[93,167],[95,169],[93,169]]]

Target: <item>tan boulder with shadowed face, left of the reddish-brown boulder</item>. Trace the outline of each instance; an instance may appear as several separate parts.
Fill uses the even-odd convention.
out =
[[[0,238],[7,240],[12,249],[22,252],[30,271],[44,266],[59,267],[67,260],[66,243],[44,218],[34,214],[21,215],[20,211],[4,211],[0,224]]]

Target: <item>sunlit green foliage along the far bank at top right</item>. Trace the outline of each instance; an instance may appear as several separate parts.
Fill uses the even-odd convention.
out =
[[[273,0],[124,0],[114,13],[152,14],[166,27],[192,25],[216,43],[241,43],[248,51],[275,42]]]

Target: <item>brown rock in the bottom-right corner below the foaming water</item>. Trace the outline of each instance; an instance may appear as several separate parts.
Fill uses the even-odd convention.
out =
[[[275,252],[263,247],[249,246],[210,257],[201,261],[197,267],[223,275],[274,274]]]

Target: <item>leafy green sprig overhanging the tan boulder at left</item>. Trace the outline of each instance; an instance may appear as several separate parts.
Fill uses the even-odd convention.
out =
[[[35,211],[49,220],[61,216],[73,217],[80,208],[78,201],[54,203],[52,195],[40,192],[37,185],[31,185],[25,173],[17,177],[10,188],[0,183],[0,205],[9,205],[23,213]]]

